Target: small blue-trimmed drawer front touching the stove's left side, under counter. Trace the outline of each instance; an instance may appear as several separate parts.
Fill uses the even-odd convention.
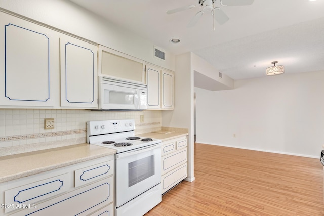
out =
[[[74,185],[79,187],[113,174],[113,160],[77,169],[74,172]]]

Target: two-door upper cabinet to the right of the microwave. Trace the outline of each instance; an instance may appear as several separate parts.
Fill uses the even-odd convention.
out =
[[[174,109],[174,73],[146,65],[147,109]]]

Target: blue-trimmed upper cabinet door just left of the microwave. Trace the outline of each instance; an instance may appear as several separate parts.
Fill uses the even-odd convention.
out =
[[[97,50],[88,42],[61,35],[62,107],[98,108]]]

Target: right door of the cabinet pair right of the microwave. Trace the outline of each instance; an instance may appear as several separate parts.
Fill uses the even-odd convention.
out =
[[[162,109],[173,109],[174,74],[169,71],[162,71]]]

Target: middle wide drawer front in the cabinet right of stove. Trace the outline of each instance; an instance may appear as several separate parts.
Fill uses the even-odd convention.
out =
[[[187,149],[165,155],[162,157],[162,175],[185,163],[187,160]]]

